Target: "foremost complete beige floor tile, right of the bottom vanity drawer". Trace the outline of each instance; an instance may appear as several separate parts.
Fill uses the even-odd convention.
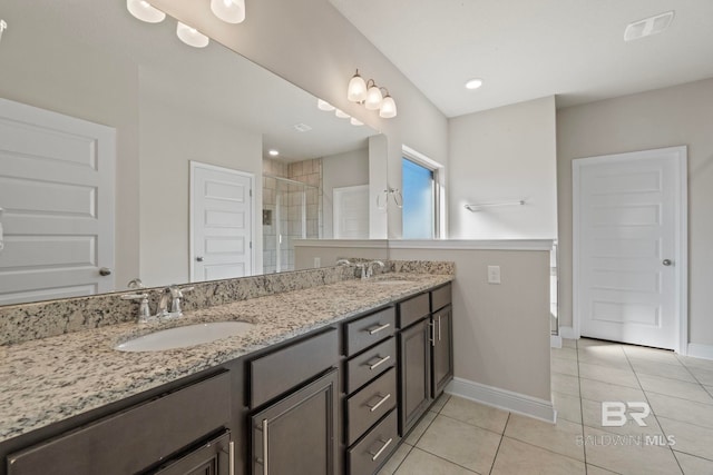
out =
[[[500,437],[494,432],[439,415],[416,446],[473,472],[487,474],[492,467]]]

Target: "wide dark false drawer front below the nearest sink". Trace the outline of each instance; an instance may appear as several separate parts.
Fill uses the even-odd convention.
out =
[[[229,418],[231,374],[223,373],[10,454],[8,475],[137,473]]]

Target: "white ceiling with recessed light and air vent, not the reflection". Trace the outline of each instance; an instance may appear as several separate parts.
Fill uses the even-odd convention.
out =
[[[553,95],[567,107],[713,77],[713,0],[330,2],[447,117]],[[628,23],[670,10],[666,31],[624,42]],[[475,77],[485,85],[465,89]]]

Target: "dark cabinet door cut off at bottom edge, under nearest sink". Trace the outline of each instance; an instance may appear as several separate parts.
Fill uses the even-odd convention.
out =
[[[206,443],[183,457],[166,464],[153,475],[234,475],[235,461],[231,434]]]

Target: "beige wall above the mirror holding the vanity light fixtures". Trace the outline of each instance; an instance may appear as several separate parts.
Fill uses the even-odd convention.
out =
[[[391,187],[401,188],[404,144],[448,165],[446,117],[328,0],[253,1],[247,6],[246,20],[238,26],[217,20],[205,2],[152,3],[384,133]],[[397,101],[395,118],[381,119],[375,111],[346,100],[346,85],[356,68],[389,89]],[[388,218],[389,236],[401,236],[399,208],[391,206]],[[385,237],[385,232],[382,236],[379,230],[377,236]]]

